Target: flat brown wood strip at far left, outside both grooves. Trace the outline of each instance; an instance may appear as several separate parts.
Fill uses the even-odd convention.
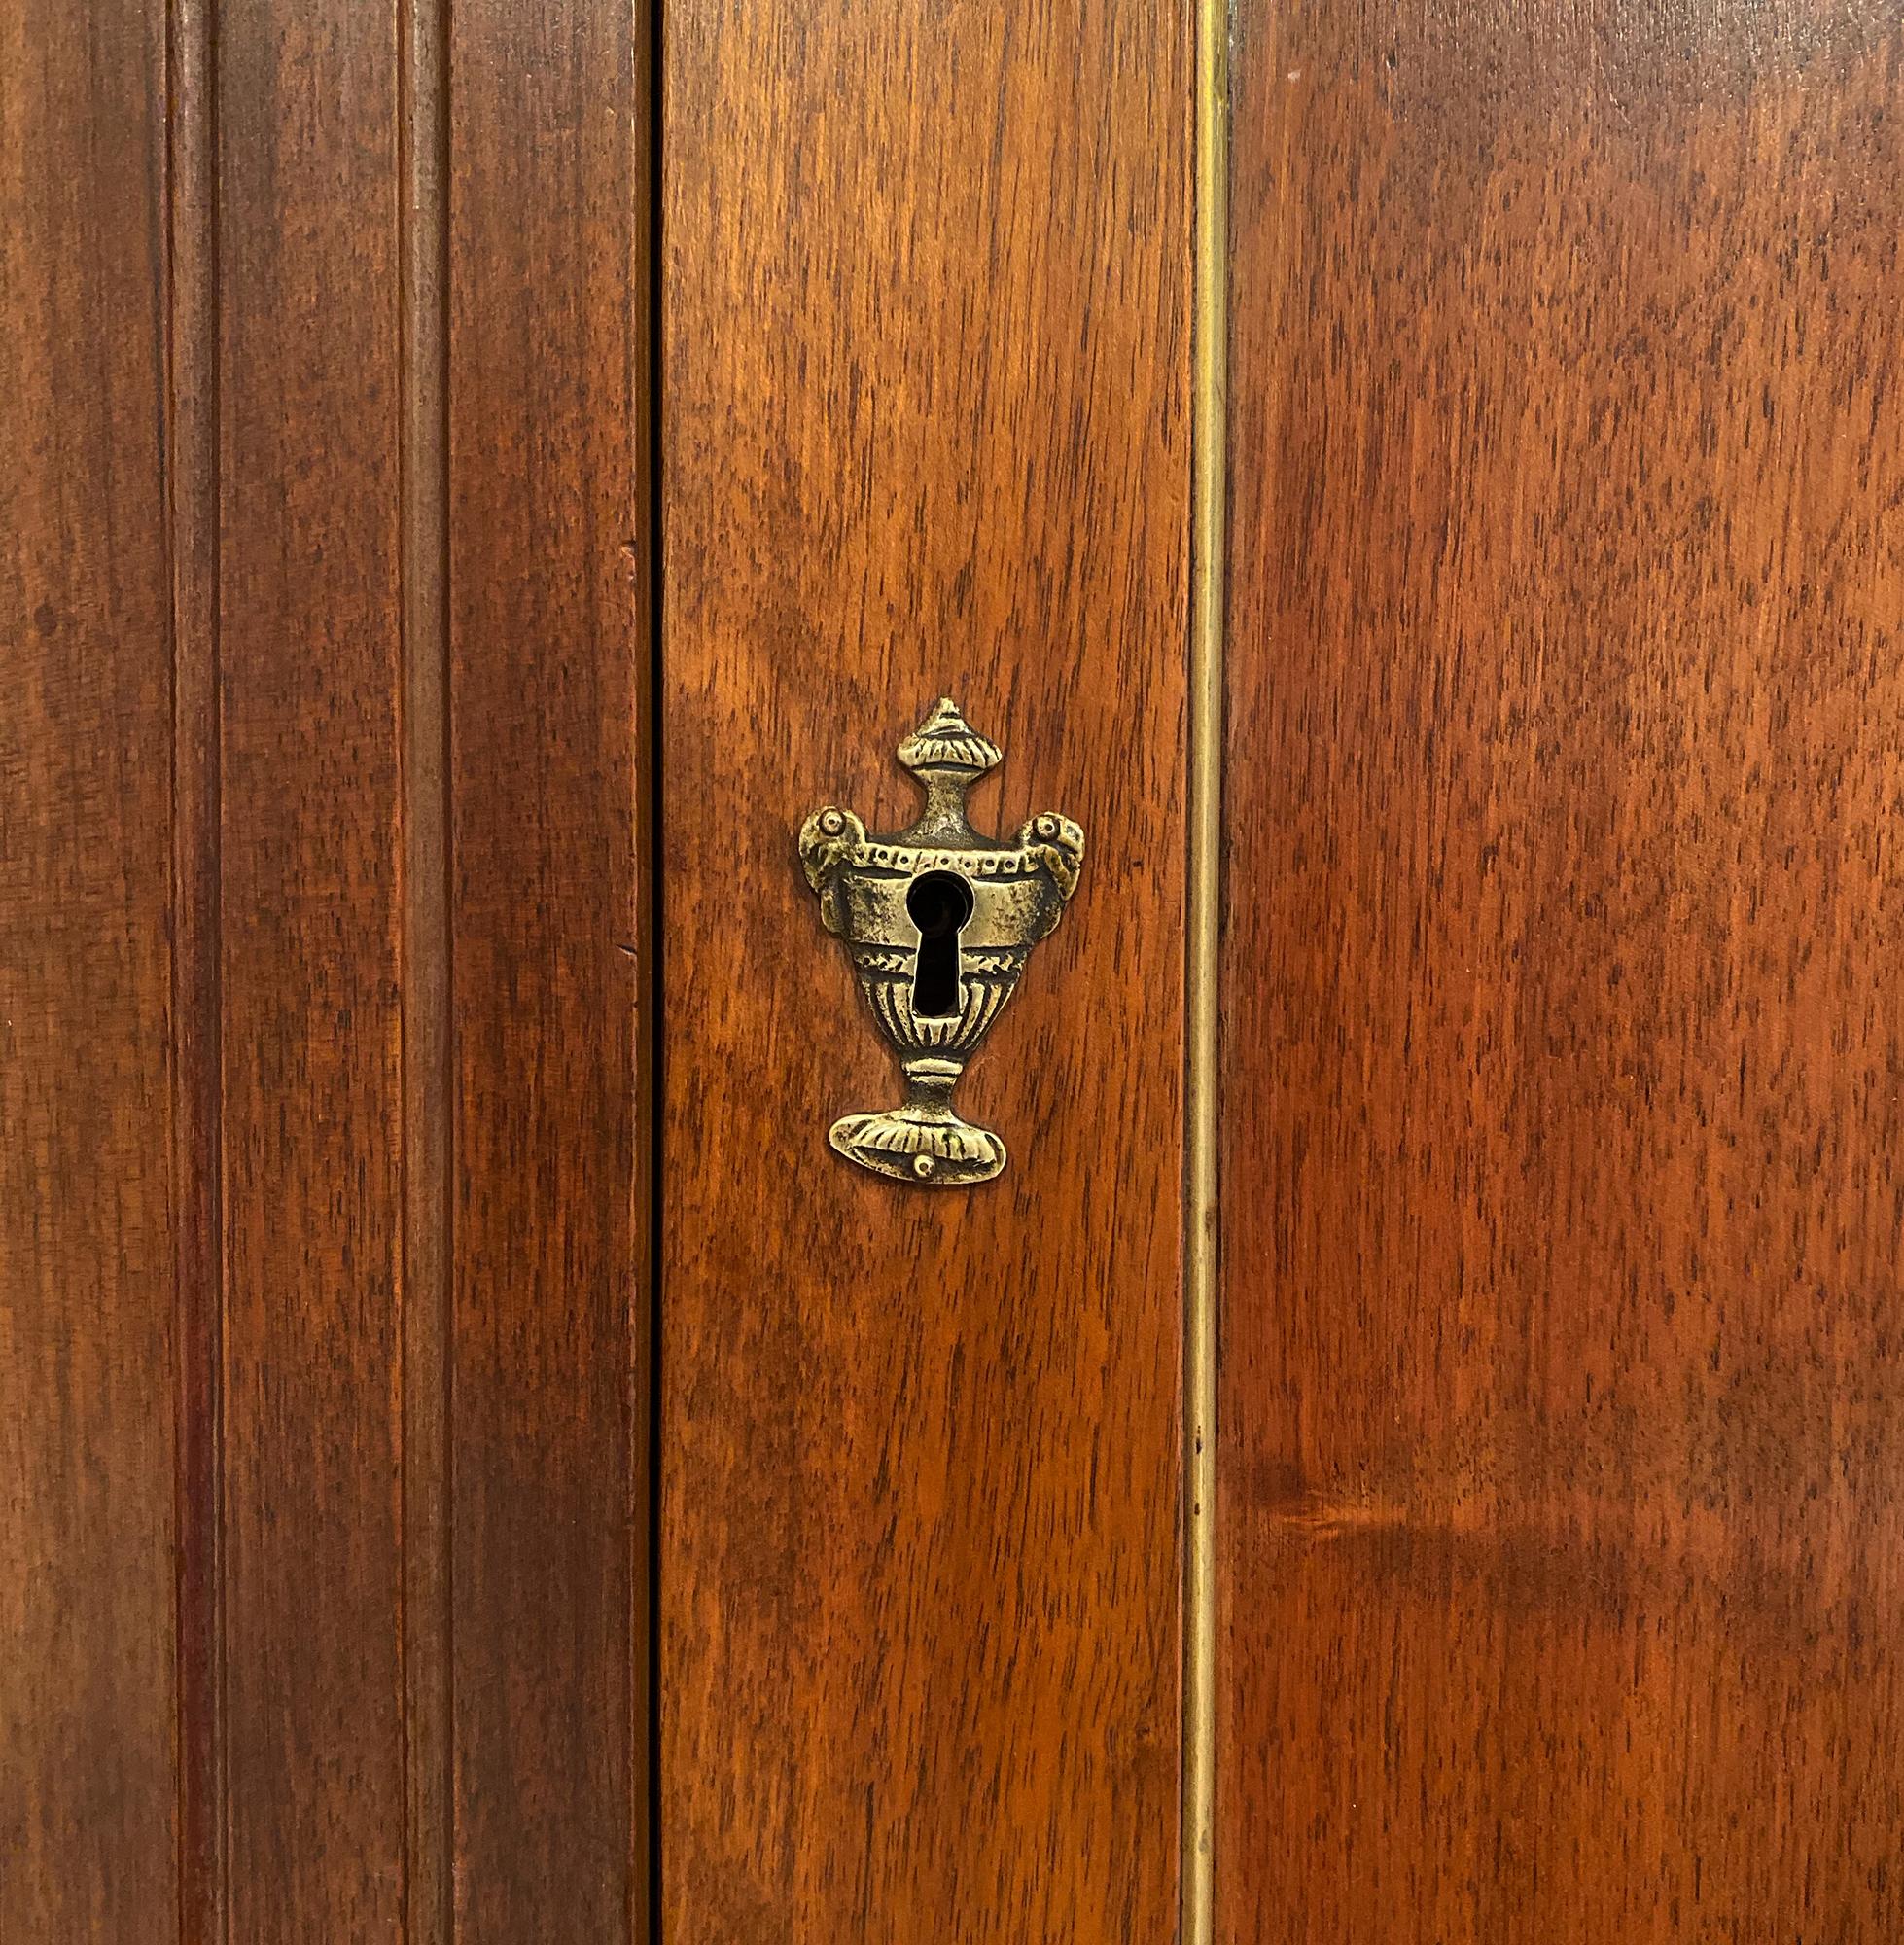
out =
[[[177,1937],[163,23],[0,16],[0,1935]]]

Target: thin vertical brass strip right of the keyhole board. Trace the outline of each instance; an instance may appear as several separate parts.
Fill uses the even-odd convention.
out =
[[[1190,397],[1190,883],[1184,1118],[1182,1945],[1216,1926],[1217,945],[1229,366],[1229,0],[1196,0]]]

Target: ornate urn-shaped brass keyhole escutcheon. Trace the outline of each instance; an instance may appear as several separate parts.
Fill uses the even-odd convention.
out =
[[[926,809],[891,836],[827,805],[799,831],[799,862],[827,930],[846,941],[860,990],[906,1078],[900,1107],[844,1114],[827,1140],[902,1183],[986,1183],[1005,1144],[961,1120],[953,1087],[1017,988],[1031,947],[1064,916],[1083,831],[1040,811],[1009,844],[980,836],[965,794],[1004,753],[941,696],[899,745]]]

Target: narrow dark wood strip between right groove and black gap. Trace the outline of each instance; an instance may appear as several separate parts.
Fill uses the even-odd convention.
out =
[[[648,27],[449,21],[455,1935],[593,1945],[648,1935]]]

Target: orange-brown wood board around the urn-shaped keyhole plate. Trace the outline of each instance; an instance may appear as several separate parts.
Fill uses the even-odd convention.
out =
[[[704,4],[665,37],[669,1935],[1175,1926],[1188,62],[1163,6]],[[1089,838],[965,1081],[895,1085],[793,848],[974,799]]]

